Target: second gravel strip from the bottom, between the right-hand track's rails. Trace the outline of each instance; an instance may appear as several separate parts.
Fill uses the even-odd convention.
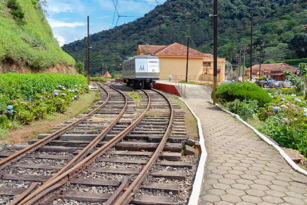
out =
[[[92,192],[92,193],[111,193],[116,191],[117,187],[101,187],[101,186],[86,186],[86,185],[71,185],[69,183],[65,184],[63,191],[77,191],[77,192]]]

